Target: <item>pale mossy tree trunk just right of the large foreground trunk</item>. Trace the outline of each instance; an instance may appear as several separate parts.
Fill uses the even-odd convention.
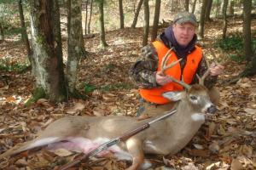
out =
[[[82,0],[67,1],[67,84],[68,91],[75,92],[79,60],[84,56],[82,32]]]

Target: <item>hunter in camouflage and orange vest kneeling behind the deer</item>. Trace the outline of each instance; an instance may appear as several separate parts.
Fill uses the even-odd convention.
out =
[[[170,76],[178,79],[183,77],[186,83],[193,84],[198,81],[196,74],[202,76],[207,71],[207,63],[203,58],[202,50],[195,45],[196,26],[194,14],[179,13],[174,17],[172,26],[167,27],[155,42],[142,48],[143,58],[137,60],[130,71],[131,79],[139,86],[143,99],[143,107],[139,109],[138,116],[143,116],[143,112],[154,116],[172,109],[173,103],[163,98],[161,94],[182,89],[177,88]],[[160,72],[160,64],[170,48],[173,49],[169,60],[182,60],[177,64],[178,67],[168,69],[164,75]],[[212,87],[223,70],[223,65],[210,66],[210,75],[205,79],[206,87],[212,92],[210,96],[216,94],[216,89]],[[216,96],[211,96],[211,99],[214,100],[214,98]]]

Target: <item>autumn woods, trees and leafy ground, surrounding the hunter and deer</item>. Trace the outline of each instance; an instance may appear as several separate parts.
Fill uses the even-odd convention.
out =
[[[129,77],[140,49],[179,11],[199,22],[199,45],[225,65],[218,115],[176,156],[176,169],[256,168],[256,1],[0,0],[0,152],[67,115],[135,116]],[[213,51],[213,54],[211,52]],[[3,160],[0,167],[53,169],[73,154],[44,151]],[[89,169],[124,169],[102,159]]]

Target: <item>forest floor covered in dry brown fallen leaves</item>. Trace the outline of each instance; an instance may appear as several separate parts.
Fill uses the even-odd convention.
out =
[[[221,20],[206,24],[205,39],[201,45],[210,60],[212,55],[208,47],[221,37],[221,26]],[[241,20],[230,20],[228,34],[241,32],[241,26]],[[256,30],[256,20],[252,22],[252,30]],[[140,55],[142,36],[143,28],[108,31],[106,39],[109,46],[105,50],[98,48],[98,35],[84,38],[90,56],[81,59],[79,64],[78,89],[83,93],[86,90],[88,99],[85,100],[70,99],[67,103],[54,105],[46,99],[39,99],[34,105],[26,107],[24,103],[31,97],[34,83],[31,71],[1,70],[0,153],[33,139],[39,130],[62,116],[135,116],[140,105],[139,97],[128,71]],[[14,38],[7,38],[0,43],[0,48],[0,59],[14,68],[26,60],[24,44]],[[152,169],[256,169],[256,77],[242,78],[236,84],[225,83],[238,75],[245,63],[228,58],[232,52],[223,52],[216,47],[212,49],[218,61],[225,66],[217,84],[220,91],[218,113],[207,120],[190,143],[175,156],[151,157],[157,165]],[[66,41],[63,41],[63,58],[65,62]],[[0,168],[55,169],[74,156],[76,154],[67,150],[42,150],[34,155],[0,160]],[[125,161],[98,158],[84,162],[80,167],[125,169],[128,165]]]

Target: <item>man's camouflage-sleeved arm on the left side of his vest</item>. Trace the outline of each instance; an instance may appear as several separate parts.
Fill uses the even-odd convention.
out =
[[[158,56],[151,44],[142,48],[142,57],[131,66],[129,72],[131,80],[139,88],[159,87],[155,75],[158,67]]]

